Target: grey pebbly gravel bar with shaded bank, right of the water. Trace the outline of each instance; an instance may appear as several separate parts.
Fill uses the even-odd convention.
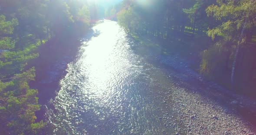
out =
[[[142,55],[145,61],[164,70],[162,76],[172,79],[173,87],[166,87],[158,79],[154,82],[162,87],[156,94],[163,103],[158,107],[163,126],[174,128],[177,135],[256,135],[255,99],[204,79],[189,68],[193,61],[177,54],[163,55],[143,46],[134,49],[148,52]]]

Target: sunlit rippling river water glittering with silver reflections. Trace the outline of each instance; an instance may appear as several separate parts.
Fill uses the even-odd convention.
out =
[[[48,106],[54,133],[146,135],[169,130],[159,123],[161,101],[153,96],[158,86],[150,77],[161,73],[134,53],[135,43],[116,22],[105,21],[93,30]]]

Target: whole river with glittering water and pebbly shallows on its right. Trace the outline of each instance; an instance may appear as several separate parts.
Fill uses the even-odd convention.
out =
[[[203,80],[177,55],[164,55],[160,46],[143,47],[116,22],[94,26],[81,44],[59,90],[44,107],[45,134],[219,135],[231,129],[240,135],[251,129],[241,122],[256,115],[244,113],[243,106],[230,106],[233,93]],[[42,86],[56,84],[65,59],[49,70]],[[41,95],[49,91],[50,86],[39,90]],[[237,115],[236,109],[246,115]],[[213,119],[216,115],[220,120]]]

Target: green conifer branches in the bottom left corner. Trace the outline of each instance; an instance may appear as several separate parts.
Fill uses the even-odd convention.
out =
[[[34,77],[35,69],[31,68],[15,74],[10,82],[0,82],[0,120],[7,122],[4,129],[11,129],[12,134],[33,134],[43,128],[43,122],[35,123],[35,111],[40,109],[38,92],[28,85]]]

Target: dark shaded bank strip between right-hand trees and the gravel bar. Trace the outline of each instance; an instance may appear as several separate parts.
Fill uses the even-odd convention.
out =
[[[168,67],[171,67],[171,69],[173,69],[177,72],[182,72],[183,74],[187,74],[188,76],[190,76],[189,77],[190,80],[198,80],[198,81],[202,82],[203,84],[208,84],[210,86],[216,87],[216,90],[218,90],[219,93],[223,93],[226,96],[230,96],[231,99],[233,99],[232,101],[229,102],[230,106],[233,106],[234,104],[236,104],[235,106],[238,106],[240,109],[246,109],[246,111],[248,111],[250,113],[249,116],[252,116],[252,119],[256,118],[256,108],[255,108],[256,99],[249,97],[247,95],[241,94],[241,93],[237,93],[236,91],[232,91],[214,80],[210,80],[206,77],[203,77],[199,73],[199,70],[197,70],[197,67],[200,66],[200,60],[198,60],[199,55],[191,54],[191,53],[187,54],[187,55],[182,55],[182,53],[180,51],[175,49],[175,46],[174,46],[174,48],[173,47],[166,48],[167,45],[172,46],[172,45],[170,45],[170,43],[161,45],[157,39],[156,40],[148,39],[146,36],[143,38],[143,37],[135,35],[135,34],[130,34],[129,36],[131,36],[131,38],[133,38],[135,40],[135,42],[138,42],[139,45],[144,46],[144,48],[142,47],[143,51],[148,51],[148,50],[149,51],[151,51],[151,50],[157,51],[160,49],[160,52],[158,52],[157,54],[154,54],[154,52],[152,52],[152,51],[147,52],[148,54],[152,55],[149,58],[149,59],[151,59],[150,61],[164,64]],[[171,44],[175,44],[175,43],[172,42]],[[181,44],[181,43],[179,43],[179,44]],[[148,49],[148,48],[151,48],[151,49]],[[171,52],[168,53],[168,52],[166,52],[166,51],[168,51],[168,49],[174,49],[174,50],[171,50]],[[145,53],[145,54],[147,54],[147,53]],[[142,54],[142,55],[144,55],[144,54]],[[191,55],[194,55],[194,57]],[[173,59],[171,60],[171,63],[168,63],[168,62],[165,63],[165,61],[162,61],[162,59],[164,59],[163,57],[164,58],[173,57]],[[194,60],[193,60],[193,58],[194,58]],[[154,59],[154,60],[152,60],[152,59]]]

